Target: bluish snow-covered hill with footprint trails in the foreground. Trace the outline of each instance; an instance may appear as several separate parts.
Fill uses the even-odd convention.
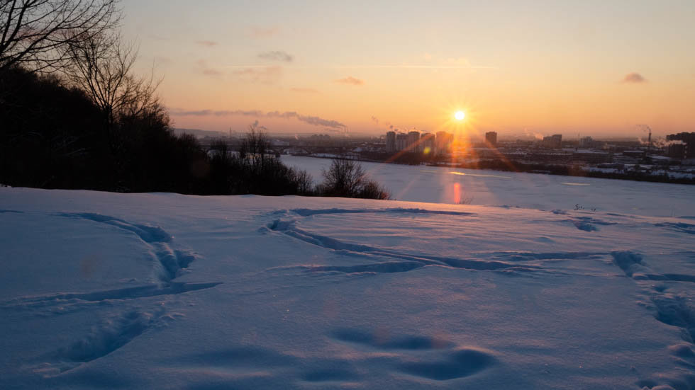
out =
[[[0,188],[0,388],[695,389],[694,214]]]

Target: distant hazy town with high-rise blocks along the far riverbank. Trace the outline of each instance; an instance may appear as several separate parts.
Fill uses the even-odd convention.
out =
[[[202,144],[224,139],[232,149],[242,136],[216,133],[220,137],[201,137],[204,133],[194,132]],[[281,155],[695,183],[695,132],[655,139],[650,130],[643,139],[563,139],[562,134],[499,139],[496,132],[486,132],[484,139],[459,139],[449,132],[414,130],[389,131],[380,137],[274,134],[270,138],[274,153]]]

